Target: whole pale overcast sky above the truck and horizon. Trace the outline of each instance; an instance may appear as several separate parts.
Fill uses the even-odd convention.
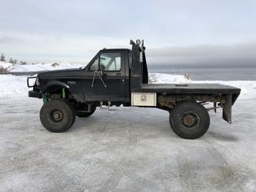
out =
[[[148,62],[256,65],[255,0],[0,0],[0,52],[18,61],[87,63],[144,38]]]

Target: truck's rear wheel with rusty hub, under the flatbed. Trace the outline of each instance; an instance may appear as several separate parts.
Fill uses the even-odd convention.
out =
[[[196,139],[203,136],[210,125],[208,111],[196,102],[178,104],[170,112],[171,129],[185,139]]]

